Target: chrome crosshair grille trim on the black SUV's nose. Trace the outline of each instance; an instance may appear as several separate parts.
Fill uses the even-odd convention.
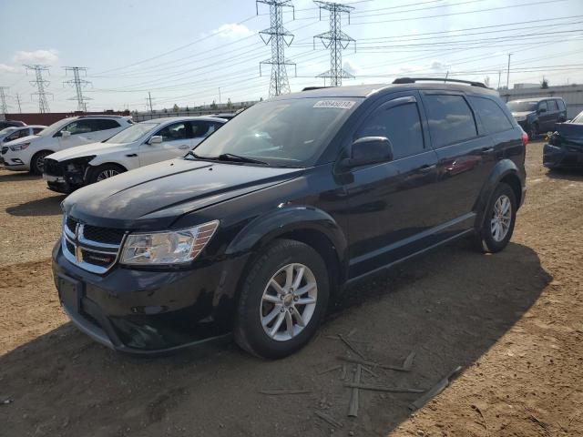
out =
[[[119,244],[108,244],[86,239],[83,236],[83,228],[85,226],[84,224],[77,222],[75,232],[73,232],[67,225],[67,222],[68,218],[64,217],[62,226],[63,236],[61,248],[63,250],[63,255],[69,262],[75,264],[77,267],[81,269],[85,269],[87,271],[97,273],[100,275],[107,273],[109,269],[116,265],[116,263],[118,262],[120,249],[123,246],[126,237],[128,236],[128,232],[124,233]],[[79,253],[72,253],[67,247],[66,244],[67,242],[75,248],[75,252],[77,252],[78,249]],[[113,260],[110,263],[108,263],[107,266],[87,262],[85,257],[87,256],[87,254],[90,255],[92,253],[96,254],[97,256],[107,255],[112,257]]]

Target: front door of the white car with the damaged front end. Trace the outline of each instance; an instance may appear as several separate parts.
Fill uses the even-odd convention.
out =
[[[192,148],[192,130],[188,121],[179,121],[161,127],[153,136],[162,137],[162,142],[151,145],[144,143],[139,147],[140,166],[183,157]]]

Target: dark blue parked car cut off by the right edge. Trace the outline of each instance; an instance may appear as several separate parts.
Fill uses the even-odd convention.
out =
[[[557,124],[543,148],[546,168],[583,168],[583,112],[568,123]]]

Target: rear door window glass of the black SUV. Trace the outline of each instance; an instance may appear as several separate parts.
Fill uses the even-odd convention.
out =
[[[425,95],[424,106],[435,148],[477,137],[476,120],[464,97]]]

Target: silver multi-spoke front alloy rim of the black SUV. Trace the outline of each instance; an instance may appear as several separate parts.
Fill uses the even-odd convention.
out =
[[[318,285],[312,270],[300,263],[283,266],[263,290],[263,330],[272,340],[293,339],[312,319],[317,300]]]

